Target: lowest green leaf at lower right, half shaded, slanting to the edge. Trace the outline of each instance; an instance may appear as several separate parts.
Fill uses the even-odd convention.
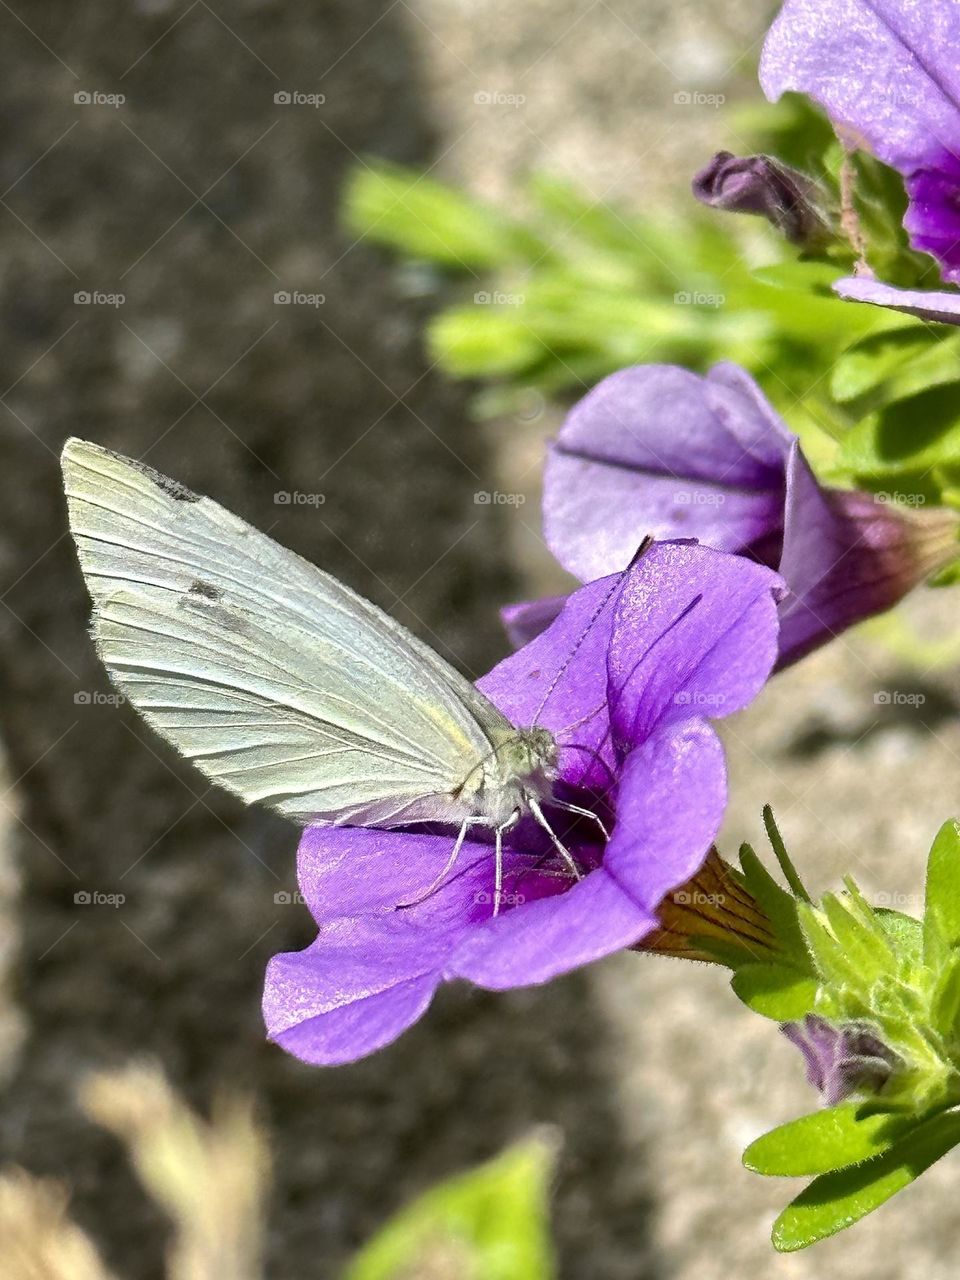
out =
[[[852,1226],[957,1143],[960,1115],[941,1114],[873,1160],[814,1179],[773,1224],[774,1248],[781,1253],[804,1249]]]

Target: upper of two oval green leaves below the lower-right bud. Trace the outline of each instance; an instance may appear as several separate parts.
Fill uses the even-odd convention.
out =
[[[881,1155],[916,1125],[913,1116],[863,1110],[863,1102],[841,1102],[771,1129],[750,1143],[744,1164],[774,1178],[829,1174]]]

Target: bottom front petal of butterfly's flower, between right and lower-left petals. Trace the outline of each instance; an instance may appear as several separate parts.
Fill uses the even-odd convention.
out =
[[[566,893],[525,904],[465,934],[445,977],[492,991],[535,986],[632,946],[657,927],[653,913],[600,868]]]

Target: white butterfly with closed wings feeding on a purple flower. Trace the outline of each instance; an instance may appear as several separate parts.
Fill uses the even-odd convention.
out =
[[[558,748],[329,573],[175,480],[87,440],[63,451],[70,530],[114,684],[197,768],[302,824],[493,829],[543,813]]]

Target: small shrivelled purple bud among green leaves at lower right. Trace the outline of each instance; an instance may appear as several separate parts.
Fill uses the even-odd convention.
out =
[[[852,1093],[877,1093],[887,1083],[900,1057],[864,1023],[833,1027],[818,1014],[781,1030],[804,1055],[806,1079],[832,1107]]]

